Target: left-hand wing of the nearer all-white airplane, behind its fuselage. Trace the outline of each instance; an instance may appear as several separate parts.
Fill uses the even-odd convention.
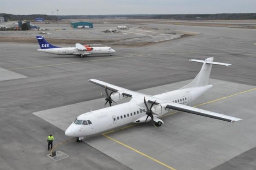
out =
[[[116,86],[116,85],[111,85],[111,84],[109,84],[107,82],[102,82],[102,81],[97,80],[97,79],[89,79],[88,81],[92,82],[93,84],[99,85],[99,86],[101,86],[103,88],[106,87],[108,90],[111,90],[111,91],[114,91],[114,92],[119,92],[122,95],[128,96],[128,97],[140,94],[140,93],[138,93],[136,91],[131,91],[131,90],[128,90],[126,88],[121,88],[121,87]]]

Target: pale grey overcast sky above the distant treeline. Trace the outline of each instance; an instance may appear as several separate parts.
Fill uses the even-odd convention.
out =
[[[256,13],[256,0],[1,0],[8,14],[216,14]]]

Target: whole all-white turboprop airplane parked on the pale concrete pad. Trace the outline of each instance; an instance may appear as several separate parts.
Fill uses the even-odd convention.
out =
[[[231,65],[213,62],[213,58],[205,60],[191,59],[189,61],[203,63],[201,71],[195,79],[183,88],[154,96],[131,91],[96,79],[90,79],[89,82],[105,88],[107,94],[105,105],[109,102],[111,106],[112,102],[118,102],[127,97],[132,99],[123,104],[81,114],[67,128],[65,135],[78,137],[77,141],[81,142],[84,139],[83,136],[101,133],[132,122],[143,123],[152,121],[154,126],[161,126],[163,121],[158,117],[168,113],[170,110],[207,116],[227,122],[241,120],[236,117],[187,106],[212,87],[212,85],[208,85],[212,65]],[[110,95],[108,90],[112,91]]]

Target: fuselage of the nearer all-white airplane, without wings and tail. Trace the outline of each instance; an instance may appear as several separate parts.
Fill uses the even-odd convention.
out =
[[[212,85],[207,85],[204,87],[180,89],[163,94],[158,94],[153,97],[166,99],[166,102],[172,101],[179,104],[188,105],[190,102],[194,101],[196,98],[204,94],[204,92],[209,90],[211,87]],[[74,137],[89,136],[96,133],[102,133],[106,130],[110,130],[132,122],[145,122],[147,116],[145,114],[145,105],[143,102],[137,102],[143,101],[144,97],[149,98],[149,96],[145,95],[136,96],[135,98],[132,98],[130,102],[81,114],[67,128],[65,134],[67,136]],[[163,116],[170,111],[170,109],[164,108],[161,104],[154,105],[152,110],[154,113],[157,113],[156,119],[154,118],[154,120],[157,120],[157,117]],[[77,120],[81,121],[77,122]],[[147,119],[147,122],[150,120],[151,119],[149,117]],[[83,125],[84,121],[86,122],[86,125]]]

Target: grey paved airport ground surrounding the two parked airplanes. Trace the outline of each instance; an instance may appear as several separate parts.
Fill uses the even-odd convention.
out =
[[[171,85],[168,89],[172,90],[179,83],[193,79],[201,64],[189,62],[189,59],[214,57],[216,62],[232,65],[213,66],[211,80],[215,86],[193,105],[255,88],[255,30],[164,24],[146,26],[175,27],[200,34],[142,47],[111,46],[117,51],[113,56],[85,58],[39,53],[36,51],[39,46],[34,43],[0,42],[0,68],[26,77],[0,82],[0,132],[4,136],[0,139],[1,167],[11,170],[33,170],[34,167],[38,170],[49,167],[63,170],[84,167],[92,170],[168,169],[102,135],[95,139],[95,144],[105,141],[107,149],[91,145],[94,143],[92,138],[88,144],[69,142],[61,145],[59,150],[69,156],[67,159],[54,162],[46,156],[49,133],[55,136],[54,144],[69,139],[62,129],[76,118],[76,114],[92,108],[84,105],[76,114],[68,115],[67,119],[60,117],[61,120],[52,123],[49,122],[58,116],[44,116],[45,121],[32,113],[81,102],[100,102],[103,89],[87,81],[91,78],[133,91],[149,89],[145,92],[154,94],[151,88]],[[160,129],[141,124],[108,136],[177,170],[214,167],[221,170],[221,166],[216,166],[256,146],[255,96],[255,91],[250,91],[200,106],[243,119],[235,124],[175,113],[163,117],[165,124]],[[93,105],[103,107],[102,102]],[[156,135],[158,138],[154,138]],[[136,142],[131,140],[131,136]],[[256,160],[255,155],[246,153],[247,158]],[[127,159],[120,160],[120,156]],[[243,161],[239,162],[240,169],[256,167],[255,164],[247,167]],[[225,166],[222,167],[224,169]]]

